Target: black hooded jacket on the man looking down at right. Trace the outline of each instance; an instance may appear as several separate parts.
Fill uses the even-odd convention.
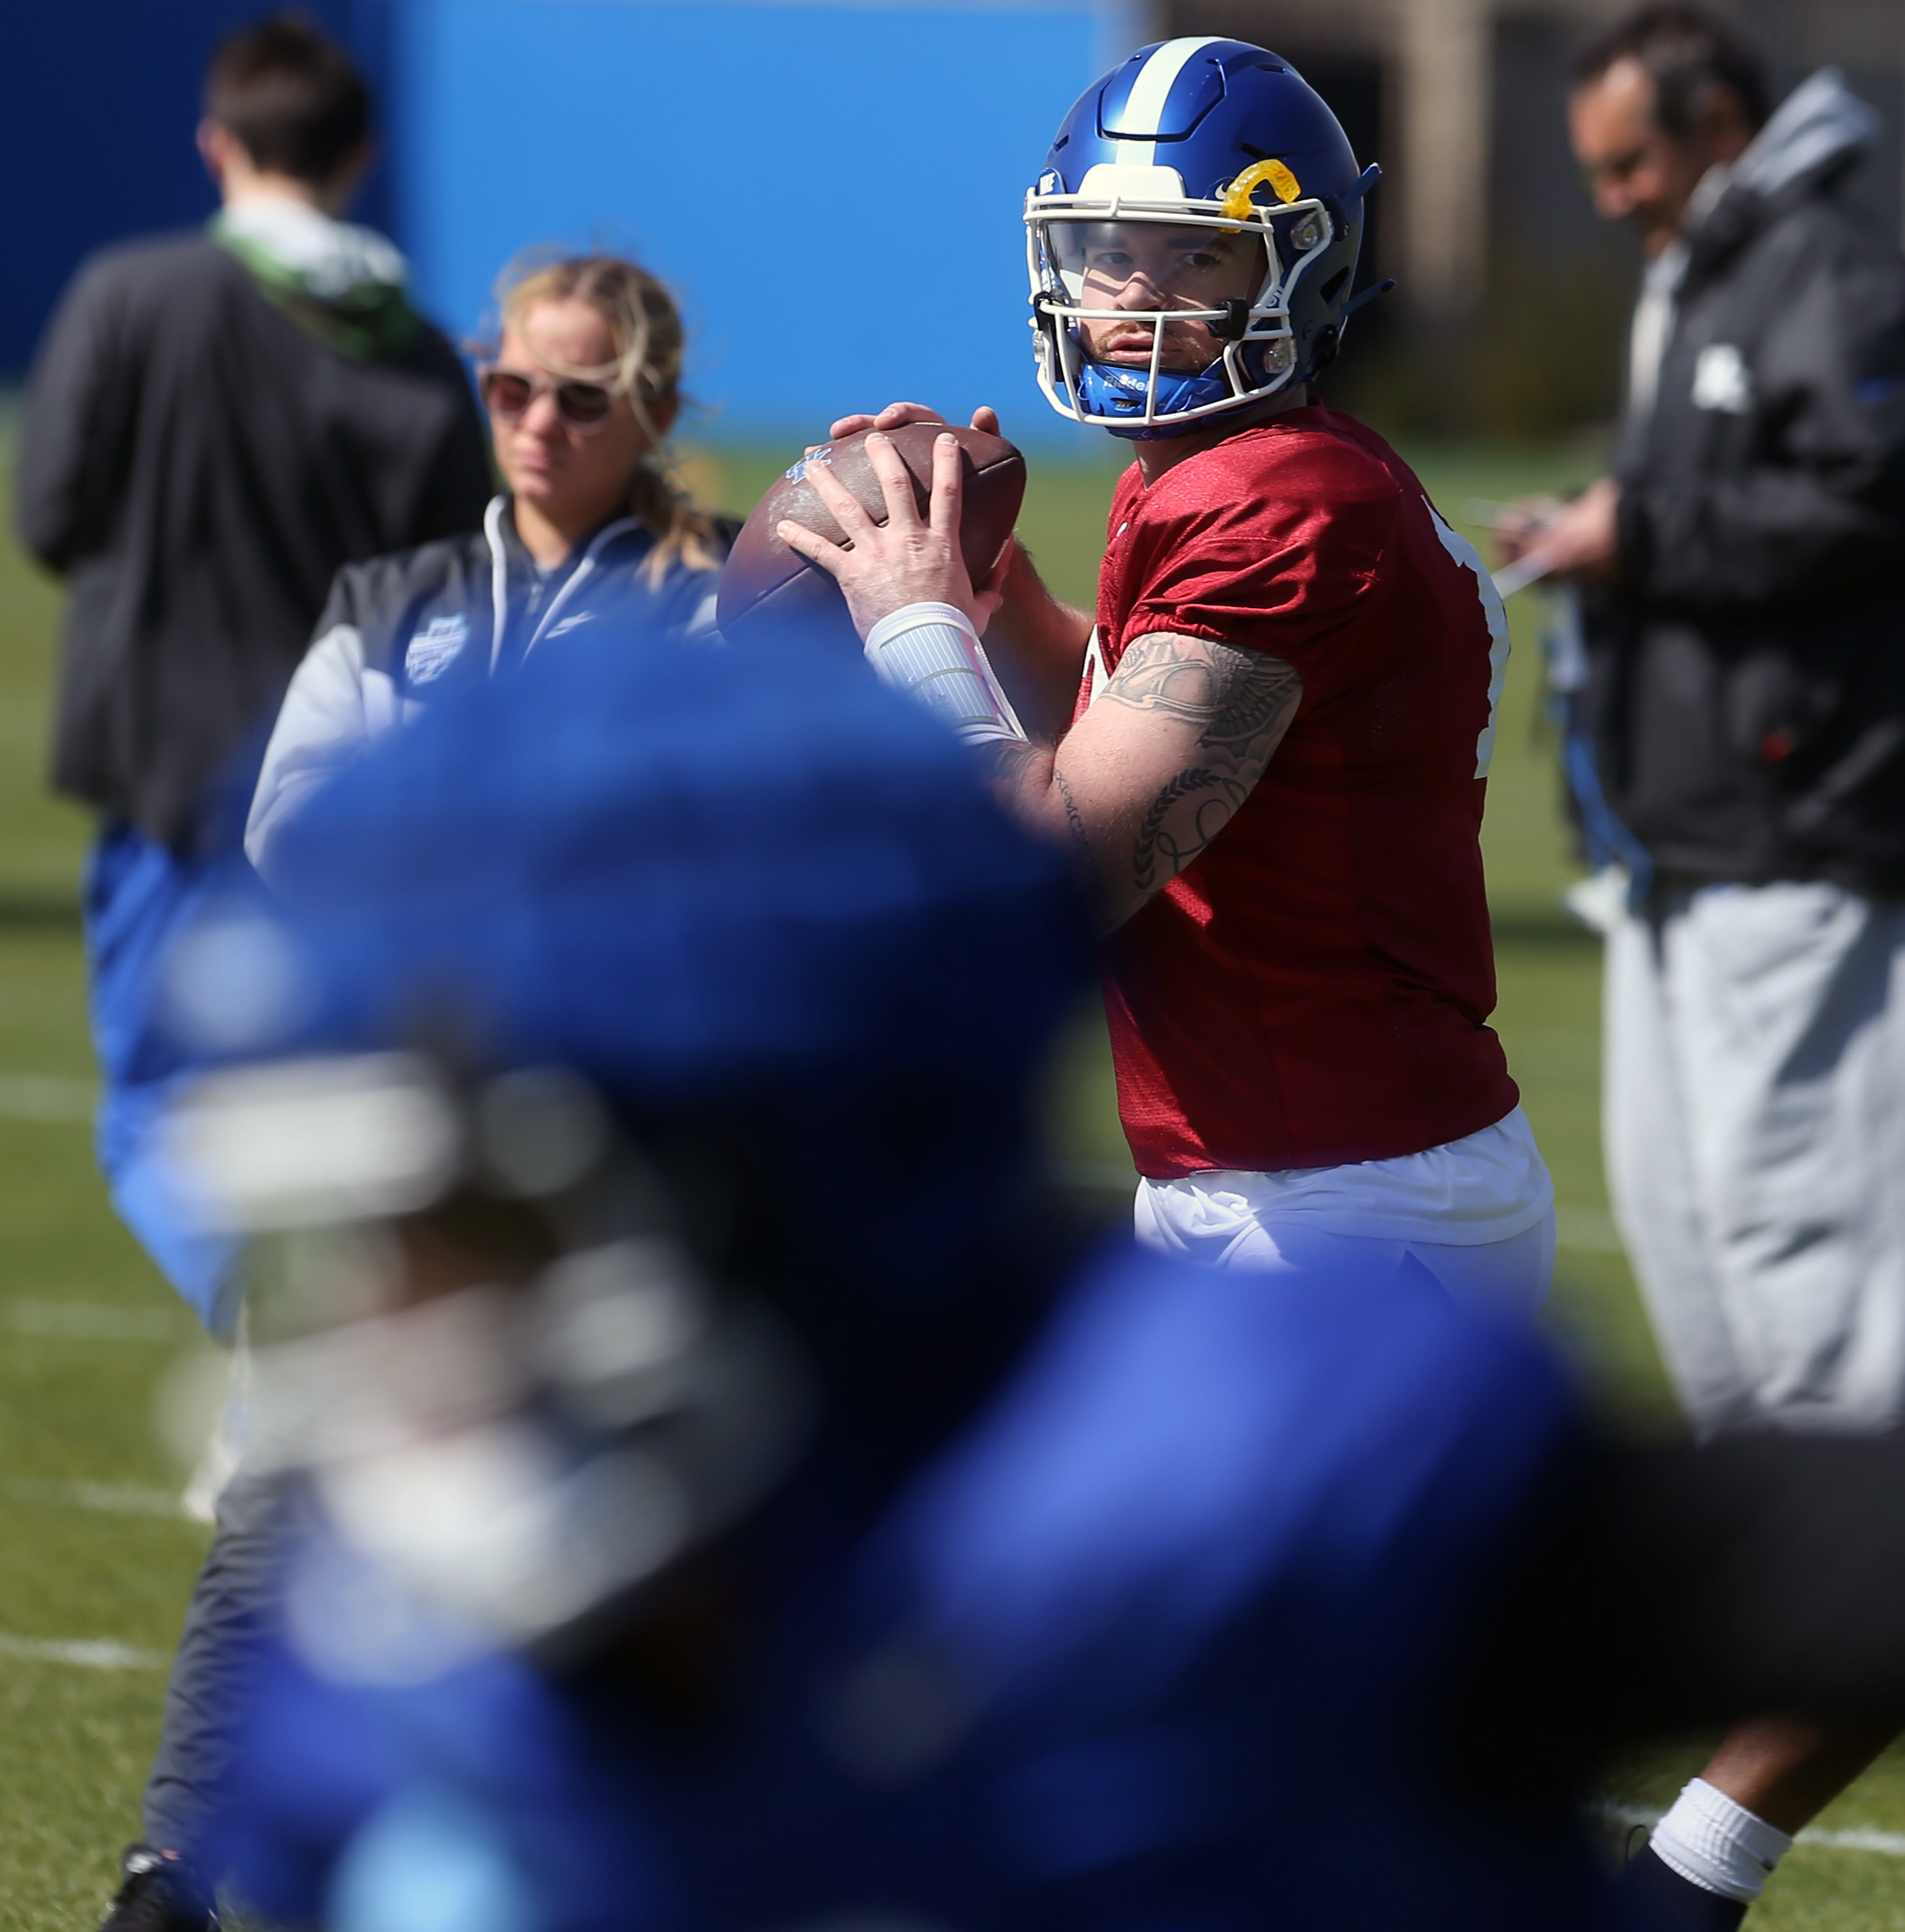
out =
[[[1835,85],[1810,164],[1768,193],[1749,151],[1689,234],[1586,723],[1656,871],[1905,895],[1905,261],[1841,195]]]

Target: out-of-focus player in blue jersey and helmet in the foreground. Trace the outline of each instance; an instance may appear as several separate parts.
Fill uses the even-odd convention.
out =
[[[1847,1617],[1895,1453],[1806,1623],[1872,1445],[1596,1451],[1368,1248],[1028,1242],[1055,869],[844,667],[605,638],[201,929],[282,989],[172,1138],[276,1236],[282,1592],[201,1847],[267,1922],[1640,1928],[1565,1799],[1660,1681],[1905,1694]]]

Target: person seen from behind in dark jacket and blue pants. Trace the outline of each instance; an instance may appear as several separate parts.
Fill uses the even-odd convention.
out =
[[[338,220],[369,151],[350,60],[296,17],[224,43],[199,147],[207,234],[104,251],[68,290],[19,444],[27,547],[70,585],[54,784],[100,815],[85,889],[100,1161],[114,1204],[213,1325],[222,1248],[145,1155],[168,1061],[153,960],[242,817],[340,564],[475,529],[489,464],[402,257]]]

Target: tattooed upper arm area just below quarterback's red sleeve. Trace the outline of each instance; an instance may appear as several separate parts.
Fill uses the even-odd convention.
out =
[[[1132,885],[1150,893],[1175,879],[1250,796],[1302,699],[1302,678],[1260,651],[1155,636],[1124,653],[1103,697],[1198,726],[1200,761],[1177,773],[1138,821]]]

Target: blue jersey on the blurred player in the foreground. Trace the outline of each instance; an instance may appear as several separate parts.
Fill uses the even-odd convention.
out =
[[[218,1851],[342,1932],[1596,1926],[1571,1820],[1464,1810],[1436,1704],[1573,1416],[1420,1271],[1119,1250],[895,1495],[815,1468],[736,1540],[694,1721],[280,1633]]]

